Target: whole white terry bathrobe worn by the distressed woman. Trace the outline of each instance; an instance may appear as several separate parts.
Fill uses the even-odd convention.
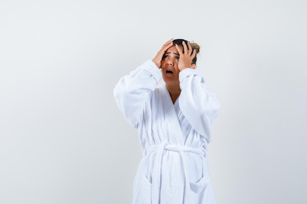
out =
[[[220,104],[198,69],[179,73],[173,104],[161,70],[148,60],[114,89],[119,109],[138,129],[144,154],[133,183],[132,204],[215,204],[206,160],[210,124]]]

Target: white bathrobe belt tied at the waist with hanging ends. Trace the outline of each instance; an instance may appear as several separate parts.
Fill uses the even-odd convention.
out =
[[[187,159],[186,154],[183,154],[183,152],[199,154],[200,156],[203,156],[203,158],[205,159],[206,150],[205,148],[195,149],[195,148],[186,147],[186,146],[172,145],[166,142],[146,148],[144,151],[144,156],[146,156],[149,153],[156,152],[155,158],[154,158],[154,164],[153,164],[153,174],[152,174],[152,202],[153,202],[152,204],[159,204],[159,200],[160,200],[161,165],[162,165],[162,156],[163,156],[164,150],[178,152],[180,154],[182,163],[183,163],[183,168],[184,168],[185,188],[187,190],[187,194],[186,194],[187,201],[188,201],[188,204],[191,204],[190,181],[189,181],[190,177],[188,175],[188,168],[186,164],[186,159]],[[182,189],[179,189],[179,191],[181,192],[175,198],[178,198],[179,200],[182,201],[182,196],[184,194],[184,185],[182,185]]]

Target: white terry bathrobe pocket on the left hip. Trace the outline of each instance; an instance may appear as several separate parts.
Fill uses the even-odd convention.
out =
[[[146,178],[144,173],[141,175],[140,182],[133,195],[132,204],[151,204],[152,203],[152,183]]]

